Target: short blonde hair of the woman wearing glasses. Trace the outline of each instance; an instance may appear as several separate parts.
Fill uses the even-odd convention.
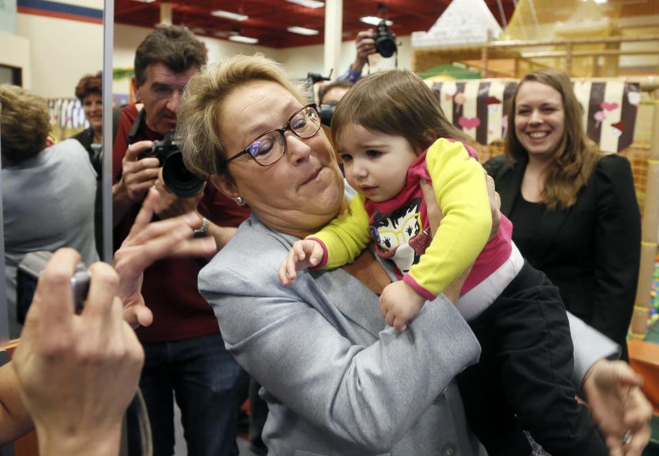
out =
[[[233,89],[253,80],[276,82],[299,102],[307,103],[281,65],[262,54],[233,56],[203,67],[187,83],[177,115],[177,133],[188,170],[200,176],[220,174],[231,178],[222,141],[231,132],[220,131],[220,119],[231,113],[222,112],[222,103]]]

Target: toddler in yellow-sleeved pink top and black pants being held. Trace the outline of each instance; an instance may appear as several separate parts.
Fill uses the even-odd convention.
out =
[[[372,241],[401,279],[384,288],[380,310],[402,331],[473,264],[456,306],[481,343],[481,361],[458,383],[489,455],[529,455],[522,429],[554,456],[608,454],[569,381],[573,345],[557,288],[524,262],[507,218],[490,238],[483,168],[437,95],[410,71],[375,73],[341,100],[332,137],[358,195],[293,244],[281,282],[290,285],[308,267],[343,266]],[[420,181],[431,183],[443,214],[434,236]]]

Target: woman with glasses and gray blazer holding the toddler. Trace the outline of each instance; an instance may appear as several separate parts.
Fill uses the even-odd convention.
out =
[[[325,225],[346,201],[318,114],[281,67],[262,56],[235,56],[202,69],[187,85],[178,125],[187,168],[252,209],[201,271],[199,289],[227,348],[264,388],[270,454],[484,454],[454,382],[480,352],[452,305],[455,291],[428,302],[398,334],[380,316],[377,293],[389,277],[369,251],[343,269],[301,273],[290,288],[279,283],[277,267],[292,242]],[[634,374],[626,365],[595,363],[615,345],[573,323],[575,385],[592,374],[583,387],[593,400],[605,394],[594,378],[608,384],[607,400],[592,401],[604,408],[593,413],[614,417],[604,427],[618,448],[628,428],[635,433],[624,449],[640,454],[629,451],[645,446],[649,415],[625,423],[611,387],[618,376],[634,383]]]

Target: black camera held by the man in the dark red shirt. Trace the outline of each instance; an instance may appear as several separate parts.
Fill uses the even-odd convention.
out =
[[[176,144],[173,131],[167,133],[162,141],[155,142],[152,148],[137,155],[138,160],[146,157],[156,157],[160,161],[165,185],[179,198],[190,198],[198,194],[204,186],[204,179],[185,168],[183,154]]]

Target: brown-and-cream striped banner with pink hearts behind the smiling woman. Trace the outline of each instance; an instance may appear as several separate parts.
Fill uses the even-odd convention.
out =
[[[632,144],[640,102],[638,83],[578,80],[573,84],[584,108],[582,122],[588,137],[603,152],[620,152]],[[516,80],[432,84],[446,117],[485,146],[506,136],[507,107],[516,87]]]

